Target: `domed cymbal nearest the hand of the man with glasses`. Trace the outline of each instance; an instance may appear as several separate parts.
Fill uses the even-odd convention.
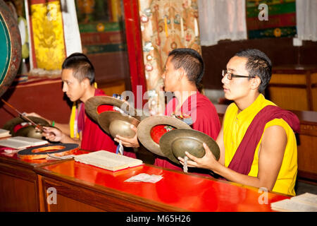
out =
[[[180,165],[178,157],[185,157],[185,151],[195,157],[204,157],[206,152],[203,143],[208,145],[216,160],[218,160],[220,149],[216,141],[207,134],[194,129],[175,129],[165,133],[161,137],[160,147],[162,153],[169,160]]]

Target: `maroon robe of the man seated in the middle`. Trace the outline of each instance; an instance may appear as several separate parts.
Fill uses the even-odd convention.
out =
[[[170,115],[175,112],[177,102],[178,100],[176,98],[173,98],[170,102],[168,102],[165,111],[166,115]],[[220,131],[220,120],[216,107],[211,103],[208,97],[197,91],[197,94],[187,98],[180,109],[182,114],[192,117],[192,129],[206,133],[208,136],[211,136],[211,138],[216,140]],[[182,165],[176,165],[166,157],[156,157],[154,165],[182,171]],[[197,174],[211,176],[206,169],[189,168],[188,172],[197,172]]]

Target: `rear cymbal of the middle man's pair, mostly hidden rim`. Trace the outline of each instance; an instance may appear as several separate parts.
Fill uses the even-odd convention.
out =
[[[85,102],[85,111],[94,121],[98,121],[98,107],[100,105],[113,105],[115,107],[123,109],[123,112],[139,120],[139,118],[137,117],[137,111],[134,109],[134,107],[131,107],[128,102],[108,96],[95,96],[90,97]]]

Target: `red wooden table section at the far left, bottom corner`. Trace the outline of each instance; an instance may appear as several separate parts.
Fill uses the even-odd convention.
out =
[[[9,148],[10,149],[10,148]],[[77,150],[76,155],[87,153]],[[20,160],[0,150],[0,211],[39,211],[36,167],[64,160]]]

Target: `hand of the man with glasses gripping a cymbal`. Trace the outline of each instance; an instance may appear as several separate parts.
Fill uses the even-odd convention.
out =
[[[190,160],[187,160],[187,167],[197,167],[197,168],[214,170],[220,163],[216,160],[213,153],[211,153],[211,150],[206,145],[206,143],[203,143],[203,145],[206,151],[206,154],[204,155],[204,157],[201,157],[201,158],[194,157],[194,155],[191,155],[185,152],[187,157],[189,157],[190,159]],[[178,157],[178,160],[180,160],[180,164],[184,165],[184,159],[182,157]]]

